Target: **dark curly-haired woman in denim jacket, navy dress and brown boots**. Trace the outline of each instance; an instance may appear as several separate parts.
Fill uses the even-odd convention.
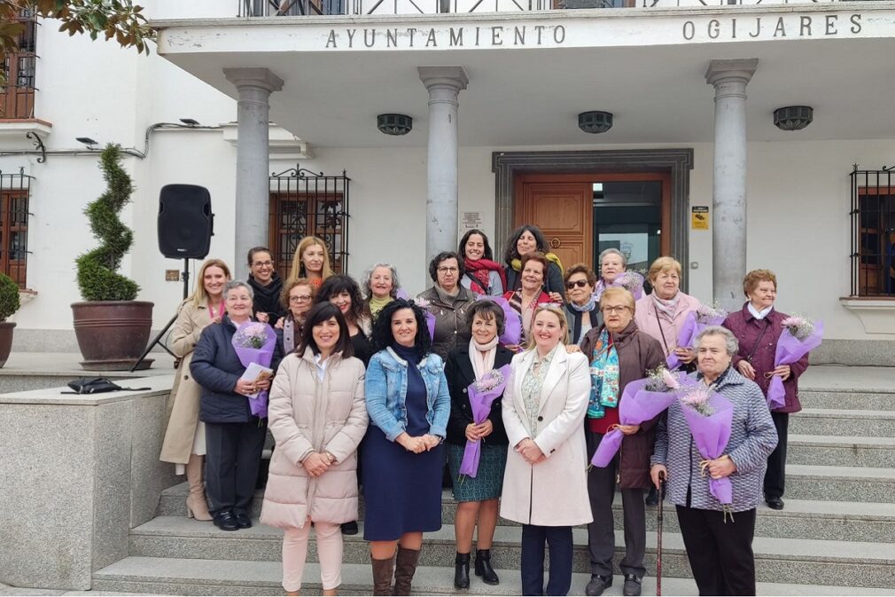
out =
[[[364,384],[370,427],[361,450],[363,538],[371,542],[373,594],[392,594],[394,570],[394,594],[409,595],[422,533],[441,528],[450,394],[422,308],[404,299],[389,303],[376,318],[373,343],[379,352]]]

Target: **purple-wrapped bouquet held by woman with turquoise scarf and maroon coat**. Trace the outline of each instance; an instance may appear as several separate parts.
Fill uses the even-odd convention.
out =
[[[628,383],[618,402],[619,424],[641,425],[653,419],[675,401],[682,387],[693,383],[684,373],[672,373],[664,367],[650,372],[644,379]],[[601,468],[609,466],[624,438],[621,430],[612,428],[593,453],[592,465]]]

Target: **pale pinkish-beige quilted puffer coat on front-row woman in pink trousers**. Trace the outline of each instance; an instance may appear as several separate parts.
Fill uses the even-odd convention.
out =
[[[283,359],[270,389],[268,425],[277,440],[270,460],[261,523],[301,528],[311,521],[357,520],[357,446],[367,430],[360,359],[328,359],[323,380],[311,349]],[[301,462],[328,452],[336,463],[311,477]]]

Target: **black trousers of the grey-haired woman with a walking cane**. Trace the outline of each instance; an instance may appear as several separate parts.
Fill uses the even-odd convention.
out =
[[[678,506],[680,534],[700,595],[754,595],[755,509],[734,520],[717,510]]]

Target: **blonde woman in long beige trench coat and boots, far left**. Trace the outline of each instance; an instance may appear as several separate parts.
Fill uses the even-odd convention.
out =
[[[209,259],[199,268],[192,295],[181,303],[171,330],[171,350],[180,359],[171,390],[171,416],[159,460],[175,463],[177,473],[186,472],[190,495],[186,498],[186,515],[209,521],[205,500],[202,465],[205,460],[205,425],[199,420],[199,399],[202,389],[189,375],[192,350],[209,324],[218,323],[224,315],[224,287],[230,281],[230,268],[220,259]]]

